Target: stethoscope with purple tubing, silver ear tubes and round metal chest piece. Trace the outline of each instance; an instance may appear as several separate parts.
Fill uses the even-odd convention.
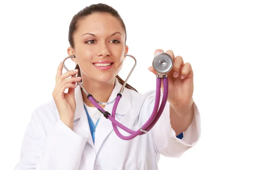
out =
[[[157,71],[157,87],[156,87],[156,97],[155,97],[155,105],[154,109],[151,113],[151,116],[149,117],[148,121],[145,122],[145,124],[137,131],[131,130],[128,127],[125,127],[122,125],[120,122],[118,122],[115,119],[116,116],[116,108],[118,105],[119,100],[122,97],[122,92],[125,89],[125,85],[131,76],[131,73],[134,71],[135,66],[137,65],[137,60],[135,57],[133,57],[130,54],[125,54],[125,56],[129,56],[134,59],[135,63],[133,68],[131,69],[131,72],[128,74],[128,77],[125,79],[124,84],[122,85],[122,88],[120,89],[119,93],[116,95],[116,98],[113,99],[111,102],[99,102],[97,101],[91,94],[89,94],[83,85],[80,82],[77,82],[81,89],[84,91],[84,93],[87,95],[87,98],[90,100],[90,102],[105,116],[106,119],[109,119],[112,122],[113,130],[115,131],[116,135],[123,140],[131,140],[134,139],[138,135],[143,135],[147,133],[149,130],[151,130],[152,127],[157,123],[158,119],[160,118],[161,114],[163,113],[163,109],[166,105],[167,102],[167,97],[168,97],[168,79],[167,79],[167,73],[172,70],[173,67],[173,59],[172,57],[165,53],[161,52],[157,55],[154,56],[153,61],[152,61],[152,66],[155,71]],[[66,71],[69,71],[67,67],[64,65],[64,62],[68,58],[75,57],[75,55],[68,56],[63,60],[63,67],[65,68]],[[75,76],[72,76],[75,77]],[[163,79],[163,99],[160,105],[160,93],[161,93],[161,80]],[[112,114],[110,114],[108,111],[105,111],[100,105],[110,105],[111,103],[114,103],[113,105],[113,110]],[[100,104],[100,105],[99,105]],[[160,107],[159,107],[160,105]],[[158,109],[159,108],[159,109]],[[120,127],[122,130],[125,130],[126,132],[130,133],[130,136],[123,136],[119,130],[118,127]]]

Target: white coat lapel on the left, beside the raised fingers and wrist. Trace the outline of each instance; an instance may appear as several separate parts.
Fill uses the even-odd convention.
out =
[[[76,100],[76,111],[75,111],[74,121],[77,120],[79,122],[74,127],[73,131],[81,136],[88,136],[87,142],[89,144],[91,144],[92,147],[94,147],[93,138],[90,133],[90,127],[89,127],[87,114],[84,110],[84,102],[83,102],[83,97],[82,97],[82,92],[81,92],[80,86],[77,86],[75,89],[75,100]]]

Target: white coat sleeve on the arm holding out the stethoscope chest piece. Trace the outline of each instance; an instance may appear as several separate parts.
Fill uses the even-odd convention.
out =
[[[162,96],[160,103],[162,101]],[[148,118],[154,108],[155,93],[148,96]],[[163,156],[177,158],[183,155],[189,148],[195,146],[201,136],[201,118],[198,107],[194,102],[194,117],[188,129],[183,132],[183,139],[176,137],[175,131],[170,123],[170,105],[166,103],[164,111],[157,123],[151,129],[152,138],[156,152]],[[178,135],[178,134],[177,134]]]

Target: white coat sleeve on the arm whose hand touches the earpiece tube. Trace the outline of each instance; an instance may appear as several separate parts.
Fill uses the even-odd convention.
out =
[[[46,122],[41,116],[38,110],[32,113],[23,138],[20,161],[14,170],[78,170],[87,138],[74,133],[61,120],[52,124],[46,134]]]

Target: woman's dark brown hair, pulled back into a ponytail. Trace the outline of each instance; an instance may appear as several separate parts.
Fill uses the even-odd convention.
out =
[[[116,17],[121,25],[122,28],[125,31],[125,42],[126,42],[126,28],[125,28],[125,23],[123,22],[122,18],[120,17],[120,15],[118,14],[118,12],[112,8],[111,6],[108,6],[106,4],[102,4],[102,3],[98,3],[98,4],[93,4],[90,6],[87,6],[85,8],[83,8],[81,11],[79,11],[76,15],[74,15],[74,17],[72,18],[71,22],[70,22],[70,27],[69,27],[69,32],[68,32],[68,41],[70,43],[70,47],[74,48],[75,44],[74,44],[74,33],[76,32],[77,28],[79,27],[79,22],[81,20],[83,20],[85,17],[89,16],[90,14],[93,13],[108,13],[111,14],[113,17]],[[76,68],[78,69],[78,77],[81,77],[81,72],[80,72],[80,68],[79,65],[76,65]],[[124,84],[124,80],[121,79],[118,75],[116,76],[116,78],[118,79],[118,81],[123,85]],[[125,85],[126,88],[137,91],[135,88],[131,87],[131,85],[128,85],[126,83]]]

